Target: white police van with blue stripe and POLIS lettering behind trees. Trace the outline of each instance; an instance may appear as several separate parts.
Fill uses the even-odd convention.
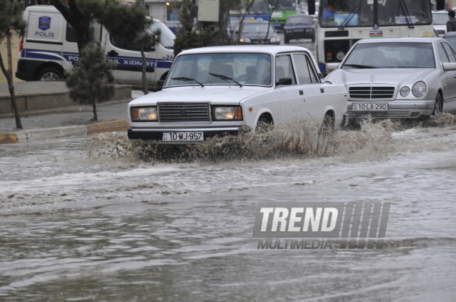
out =
[[[64,70],[73,67],[79,59],[75,30],[54,6],[28,6],[23,12],[27,34],[19,49],[16,77],[24,81],[63,79]],[[158,89],[157,81],[167,77],[173,63],[175,35],[162,22],[153,19],[151,30],[162,30],[161,41],[146,51],[147,81]],[[92,28],[95,41],[104,46],[106,57],[117,62],[115,81],[142,86],[141,52],[129,45],[110,39],[108,32],[95,23]]]

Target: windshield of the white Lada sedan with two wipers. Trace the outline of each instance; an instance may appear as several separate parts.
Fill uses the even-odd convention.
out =
[[[270,86],[271,66],[271,56],[263,53],[184,54],[175,60],[164,87],[238,83]]]

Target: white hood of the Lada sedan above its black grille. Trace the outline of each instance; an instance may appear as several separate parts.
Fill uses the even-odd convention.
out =
[[[231,88],[229,88],[231,87]],[[131,103],[133,105],[155,105],[158,102],[179,102],[195,103],[210,102],[211,104],[234,105],[240,101],[255,94],[267,92],[271,88],[256,88],[243,86],[224,86],[224,88],[213,88],[205,86],[185,87],[185,88],[167,88],[159,92],[146,94],[139,97]]]

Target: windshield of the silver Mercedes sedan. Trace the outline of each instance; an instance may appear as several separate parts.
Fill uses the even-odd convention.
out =
[[[348,68],[435,68],[431,43],[361,43],[343,63]]]

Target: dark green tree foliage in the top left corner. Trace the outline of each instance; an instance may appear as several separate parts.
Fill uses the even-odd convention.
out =
[[[0,0],[0,42],[13,32],[21,36],[26,34],[27,23],[22,18],[22,7],[19,2]]]

